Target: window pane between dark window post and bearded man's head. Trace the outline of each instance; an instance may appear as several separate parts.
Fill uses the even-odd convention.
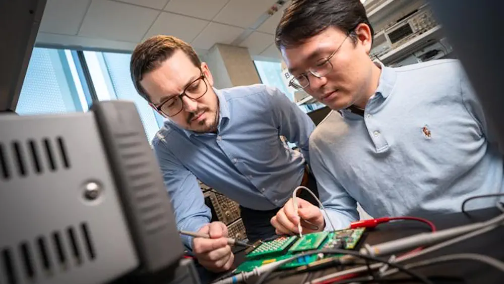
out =
[[[130,76],[131,54],[84,51],[84,56],[98,99],[133,101],[140,113],[145,134],[151,142],[164,118],[135,90]]]

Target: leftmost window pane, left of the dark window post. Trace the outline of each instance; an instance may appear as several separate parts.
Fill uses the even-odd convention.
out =
[[[39,48],[30,63],[16,106],[20,115],[87,110],[70,50]]]

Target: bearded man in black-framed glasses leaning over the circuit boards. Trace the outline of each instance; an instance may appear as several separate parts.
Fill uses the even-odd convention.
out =
[[[197,179],[241,205],[249,239],[271,237],[270,218],[292,190],[315,185],[306,170],[310,118],[276,88],[252,85],[216,90],[194,49],[171,36],[155,36],[132,54],[134,85],[169,120],[152,141],[179,230],[210,234],[182,237],[199,262],[229,269],[234,256],[227,228],[210,222]],[[301,152],[280,139],[285,136]]]

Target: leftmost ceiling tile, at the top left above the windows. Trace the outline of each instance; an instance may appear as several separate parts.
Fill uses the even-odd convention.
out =
[[[91,0],[48,0],[39,31],[76,35]]]

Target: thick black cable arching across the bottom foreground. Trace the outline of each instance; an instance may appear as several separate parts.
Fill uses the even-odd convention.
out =
[[[430,281],[426,277],[424,277],[424,276],[422,276],[422,275],[420,275],[420,274],[418,274],[418,273],[416,273],[416,272],[414,272],[414,271],[412,271],[410,269],[407,269],[407,268],[405,268],[402,265],[390,262],[390,261],[388,261],[386,259],[381,259],[381,258],[377,258],[377,257],[374,257],[374,256],[361,254],[361,253],[356,252],[356,251],[341,250],[341,249],[313,250],[313,251],[309,251],[309,252],[306,252],[306,253],[302,253],[302,254],[293,256],[293,257],[289,258],[289,261],[293,261],[296,258],[299,258],[299,257],[304,256],[304,255],[312,255],[312,254],[318,254],[318,253],[323,253],[323,254],[347,254],[347,255],[352,255],[352,256],[355,256],[355,257],[358,257],[358,258],[362,258],[362,259],[367,259],[367,260],[372,260],[372,261],[376,261],[376,262],[386,263],[389,266],[397,268],[401,272],[404,272],[404,273],[410,275],[411,277],[420,280],[422,283],[433,284],[432,281]],[[268,278],[268,276],[271,273],[273,273],[273,271],[276,270],[282,264],[276,265],[276,266],[274,266],[274,268],[272,268],[272,269],[264,272],[263,275],[261,275],[261,277],[256,281],[256,284],[263,284],[264,281],[266,280],[266,278]]]

